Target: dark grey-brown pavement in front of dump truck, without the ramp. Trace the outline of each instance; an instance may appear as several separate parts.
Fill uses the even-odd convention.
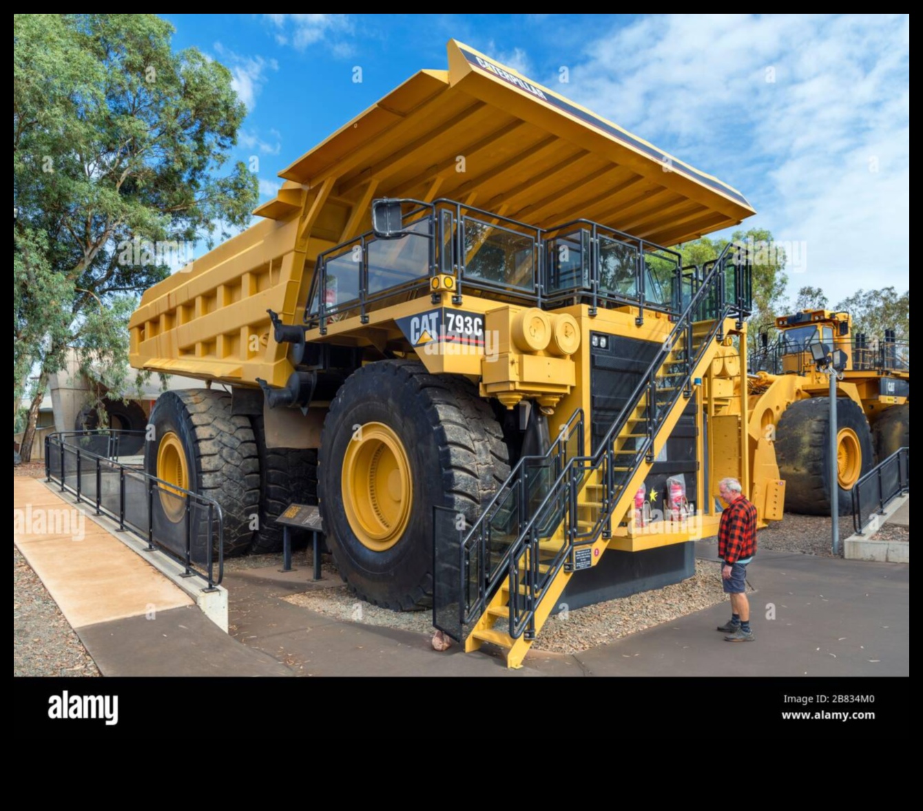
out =
[[[712,543],[698,555],[713,559]],[[725,605],[581,654],[532,652],[509,674],[489,651],[431,650],[429,638],[361,626],[283,601],[259,570],[226,578],[234,636],[298,675],[909,675],[910,567],[765,552],[749,567],[757,639],[731,644],[714,628]],[[294,588],[304,588],[303,584]]]

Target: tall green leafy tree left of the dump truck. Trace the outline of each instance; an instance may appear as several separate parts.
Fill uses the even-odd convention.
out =
[[[246,109],[172,35],[152,14],[13,16],[14,389],[68,344],[119,386],[134,295],[249,221],[257,178],[226,165]]]

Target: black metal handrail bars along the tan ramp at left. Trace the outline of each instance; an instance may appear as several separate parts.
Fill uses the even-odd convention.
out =
[[[138,470],[136,467],[123,464],[117,460],[118,437],[120,434],[137,434],[138,432],[120,432],[110,429],[97,431],[62,431],[49,434],[45,437],[45,478],[48,482],[60,484],[61,492],[72,493],[77,496],[80,504],[87,499],[83,488],[83,476],[88,471],[87,465],[94,472],[89,503],[95,507],[96,515],[105,515],[118,521],[120,531],[130,531],[148,544],[149,550],[157,549],[171,557],[184,567],[183,577],[196,575],[207,582],[206,590],[214,590],[224,577],[224,518],[221,505],[207,495],[198,495],[183,487],[165,482],[148,472]],[[142,432],[143,433],[143,432]],[[78,441],[74,441],[74,440]],[[94,453],[87,449],[93,439],[105,439],[107,455]],[[79,442],[83,441],[84,447]],[[58,469],[54,469],[52,462],[52,449],[55,449],[60,462]],[[66,456],[73,456],[76,463],[76,482],[68,481]],[[109,474],[118,475],[118,507],[109,507],[103,496],[102,472],[105,469]],[[147,521],[138,524],[131,520],[130,511],[126,507],[126,479],[135,479],[144,485],[147,501]],[[177,546],[175,541],[162,538],[155,526],[154,520],[154,495],[166,493],[171,498],[183,499],[184,539],[183,552],[174,551]],[[111,494],[115,495],[115,494]],[[204,510],[206,519],[194,518],[193,510]],[[197,523],[198,531],[193,537],[193,524]],[[193,557],[193,543],[203,544],[205,549],[204,564]],[[172,548],[174,547],[174,548]],[[215,557],[217,556],[217,560]],[[215,567],[218,572],[215,574]]]

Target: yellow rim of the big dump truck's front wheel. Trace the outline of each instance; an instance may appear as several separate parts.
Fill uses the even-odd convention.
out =
[[[342,496],[350,527],[366,548],[384,552],[401,540],[413,481],[407,452],[388,425],[366,423],[354,433],[343,458]]]

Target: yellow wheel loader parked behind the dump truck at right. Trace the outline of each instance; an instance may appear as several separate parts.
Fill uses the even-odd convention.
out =
[[[787,484],[785,507],[792,512],[830,515],[834,505],[841,514],[852,512],[858,479],[876,460],[910,446],[910,344],[897,340],[893,329],[854,335],[849,314],[830,310],[779,316],[774,326],[777,340],[770,343],[768,330],[761,332],[749,360],[750,438],[762,439],[766,448],[754,464],[765,458],[778,465]],[[812,347],[842,353],[835,484],[830,388]]]

